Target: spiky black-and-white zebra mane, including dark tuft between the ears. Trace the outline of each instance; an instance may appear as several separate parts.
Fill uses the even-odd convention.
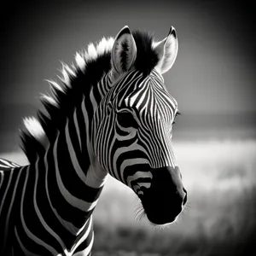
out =
[[[147,76],[156,66],[157,54],[153,48],[153,36],[148,32],[134,31],[132,35],[137,44],[137,59],[134,66]],[[96,44],[89,44],[87,50],[77,52],[75,65],[62,63],[58,83],[49,82],[52,95],[41,95],[46,113],[38,110],[38,119],[34,117],[23,120],[25,129],[20,130],[21,148],[27,159],[33,162],[38,155],[44,155],[50,142],[55,141],[57,131],[66,124],[74,108],[81,104],[84,95],[89,95],[105,73],[111,69],[111,50],[113,38],[102,38]]]

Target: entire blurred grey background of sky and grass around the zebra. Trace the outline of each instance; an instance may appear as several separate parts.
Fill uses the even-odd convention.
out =
[[[256,237],[253,1],[44,1],[1,7],[0,157],[26,164],[22,118],[35,115],[44,79],[76,51],[125,26],[179,51],[166,86],[182,113],[173,144],[189,203],[177,223],[137,220],[130,189],[108,178],[95,212],[95,255],[251,255]],[[253,251],[252,251],[253,252]],[[255,249],[254,249],[255,253]]]

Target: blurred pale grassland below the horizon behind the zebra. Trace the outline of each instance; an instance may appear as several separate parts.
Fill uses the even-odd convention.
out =
[[[174,143],[188,207],[160,230],[135,219],[139,201],[108,178],[96,207],[94,254],[255,255],[256,141]],[[1,154],[20,164],[22,154]]]

